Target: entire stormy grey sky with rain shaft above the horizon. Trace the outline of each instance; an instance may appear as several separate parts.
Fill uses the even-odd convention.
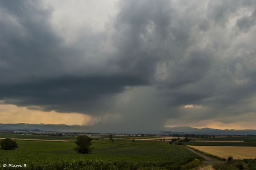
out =
[[[256,129],[255,24],[254,0],[1,0],[0,122]]]

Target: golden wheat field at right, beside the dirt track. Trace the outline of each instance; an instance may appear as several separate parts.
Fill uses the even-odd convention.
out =
[[[205,153],[221,158],[232,156],[234,159],[256,158],[256,147],[232,147],[232,146],[189,146]]]

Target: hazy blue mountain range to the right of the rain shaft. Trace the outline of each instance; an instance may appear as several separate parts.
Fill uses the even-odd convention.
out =
[[[256,130],[234,130],[234,129],[212,129],[194,127],[166,127],[162,130],[163,134],[206,134],[206,135],[256,135]]]

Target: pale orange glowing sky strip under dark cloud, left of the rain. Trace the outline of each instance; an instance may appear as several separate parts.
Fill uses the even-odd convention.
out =
[[[67,124],[94,125],[97,118],[81,113],[60,113],[55,111],[40,111],[17,107],[13,104],[0,103],[0,123],[29,123],[29,124]]]

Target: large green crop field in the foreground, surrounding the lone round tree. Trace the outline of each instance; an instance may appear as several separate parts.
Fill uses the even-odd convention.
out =
[[[198,166],[201,159],[182,146],[160,141],[93,140],[92,154],[76,153],[74,142],[17,140],[17,144],[16,150],[0,150],[0,166],[26,164],[26,170],[185,170]]]

